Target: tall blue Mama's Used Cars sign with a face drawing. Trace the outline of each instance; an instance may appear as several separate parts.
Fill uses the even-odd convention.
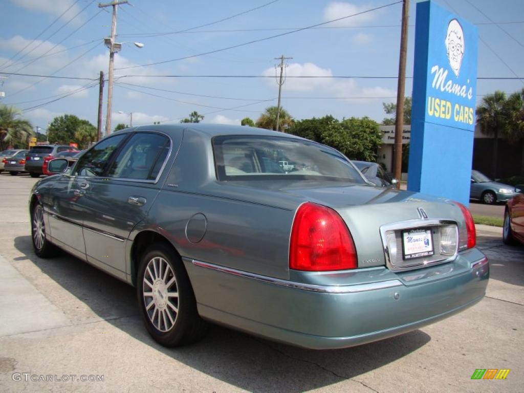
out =
[[[469,203],[477,28],[417,3],[408,190]]]

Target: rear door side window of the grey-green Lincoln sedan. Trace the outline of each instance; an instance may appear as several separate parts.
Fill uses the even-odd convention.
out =
[[[108,177],[155,180],[169,152],[169,138],[154,133],[137,133],[118,153]]]

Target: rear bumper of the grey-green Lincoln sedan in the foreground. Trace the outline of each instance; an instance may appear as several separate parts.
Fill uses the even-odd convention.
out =
[[[191,259],[184,258],[184,264],[204,318],[318,350],[377,341],[447,318],[480,301],[489,277],[487,259],[477,249],[450,263],[401,274],[359,269],[351,272],[354,284],[345,286],[286,286]]]

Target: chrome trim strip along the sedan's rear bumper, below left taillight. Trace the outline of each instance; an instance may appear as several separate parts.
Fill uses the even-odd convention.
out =
[[[340,285],[340,286],[323,286],[323,285],[313,285],[306,284],[302,282],[293,282],[287,280],[281,280],[279,278],[261,276],[254,273],[249,273],[243,270],[231,269],[224,266],[209,264],[202,262],[200,260],[189,259],[194,266],[203,267],[206,269],[221,271],[223,273],[232,274],[235,276],[240,276],[244,278],[250,278],[257,281],[263,281],[268,284],[278,285],[281,287],[301,289],[304,291],[311,292],[321,292],[321,293],[356,293],[356,292],[366,292],[373,291],[377,289],[386,289],[393,287],[401,287],[403,284],[399,280],[387,280],[379,282],[370,282],[366,284],[357,284],[357,285]]]

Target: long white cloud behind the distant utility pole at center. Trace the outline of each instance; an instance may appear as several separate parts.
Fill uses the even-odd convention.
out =
[[[322,94],[333,95],[335,97],[359,97],[358,99],[372,99],[374,97],[395,96],[396,92],[381,86],[371,86],[362,88],[355,79],[329,78],[333,76],[331,69],[324,69],[313,63],[292,63],[287,69],[289,76],[314,76],[328,78],[288,78],[283,86],[283,91],[307,92],[316,91]],[[275,70],[268,68],[263,71],[263,75],[274,75]],[[273,85],[274,80],[268,79],[268,85]],[[285,93],[284,93],[285,94]]]

